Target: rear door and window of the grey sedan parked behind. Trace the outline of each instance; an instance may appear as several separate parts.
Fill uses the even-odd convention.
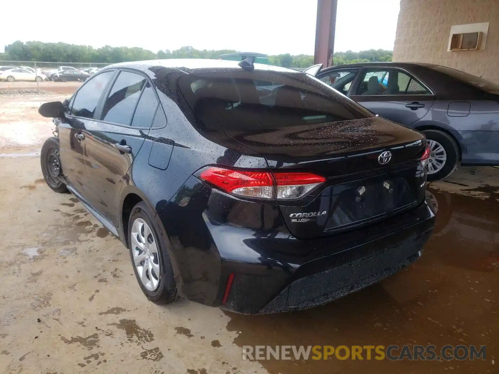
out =
[[[350,98],[371,112],[410,126],[428,113],[435,95],[411,73],[397,68],[364,68]]]

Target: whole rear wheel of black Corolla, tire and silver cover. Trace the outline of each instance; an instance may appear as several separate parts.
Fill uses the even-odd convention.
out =
[[[133,207],[128,221],[128,249],[135,277],[144,295],[156,304],[170,304],[179,299],[179,294],[170,256],[157,234],[153,216],[143,201]],[[147,241],[144,238],[146,233],[149,233]],[[147,246],[142,245],[145,242]]]

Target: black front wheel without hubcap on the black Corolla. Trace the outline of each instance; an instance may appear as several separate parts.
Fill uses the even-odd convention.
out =
[[[54,164],[55,163],[55,164]],[[58,193],[67,193],[66,185],[58,179],[62,176],[62,169],[59,158],[59,139],[52,137],[48,138],[40,154],[41,172],[48,187]]]

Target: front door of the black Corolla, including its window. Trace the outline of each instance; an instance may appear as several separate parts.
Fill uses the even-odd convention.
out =
[[[89,192],[85,176],[87,128],[91,126],[99,100],[114,74],[114,71],[97,74],[81,86],[57,126],[62,171],[84,199]]]

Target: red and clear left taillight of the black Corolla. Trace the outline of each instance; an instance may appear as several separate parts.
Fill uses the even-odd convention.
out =
[[[326,181],[311,173],[270,173],[209,167],[200,178],[235,195],[264,199],[295,199]]]

